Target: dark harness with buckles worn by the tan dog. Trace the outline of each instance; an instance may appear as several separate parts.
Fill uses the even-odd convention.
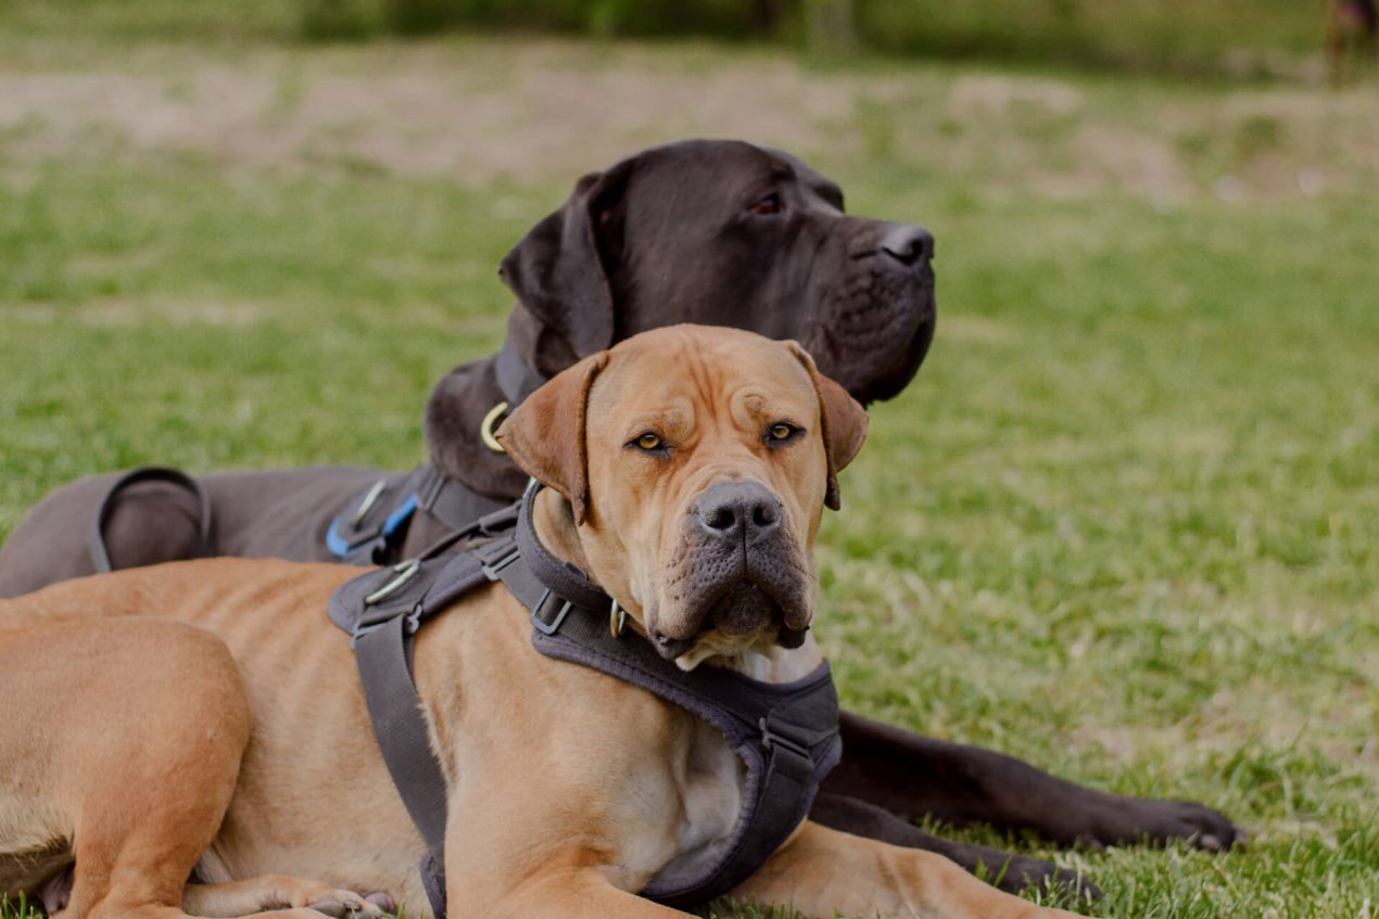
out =
[[[426,842],[421,864],[432,911],[445,915],[445,780],[432,752],[411,674],[412,638],[456,598],[502,581],[531,613],[532,646],[674,703],[718,729],[746,767],[742,810],[717,864],[658,876],[641,896],[694,907],[746,880],[804,820],[819,783],[837,765],[838,701],[821,664],[790,683],[765,683],[714,667],[684,672],[638,635],[610,628],[614,601],[536,539],[539,486],[454,533],[422,558],[361,575],[330,601],[331,621],[353,637],[360,681],[383,759]],[[443,555],[462,540],[485,540]]]

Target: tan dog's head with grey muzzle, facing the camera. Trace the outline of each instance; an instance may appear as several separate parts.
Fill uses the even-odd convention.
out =
[[[498,440],[564,497],[579,564],[688,670],[804,641],[819,517],[865,434],[794,342],[681,325],[564,371]]]

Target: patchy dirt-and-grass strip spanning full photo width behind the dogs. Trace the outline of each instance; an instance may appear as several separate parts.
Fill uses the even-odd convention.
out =
[[[1367,87],[1143,95],[1131,81],[816,70],[692,45],[456,40],[212,58],[171,47],[135,66],[0,69],[0,164],[157,152],[490,187],[568,182],[681,136],[741,136],[1058,198],[1274,198],[1379,176]]]

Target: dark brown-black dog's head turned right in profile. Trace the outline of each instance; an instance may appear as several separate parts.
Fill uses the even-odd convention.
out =
[[[800,160],[741,141],[652,147],[579,179],[503,259],[509,333],[550,376],[676,322],[801,342],[867,402],[914,376],[934,338],[934,238],[844,214]]]

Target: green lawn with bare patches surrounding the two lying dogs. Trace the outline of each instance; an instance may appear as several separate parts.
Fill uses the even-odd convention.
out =
[[[1379,912],[1373,80],[36,10],[0,10],[0,537],[137,463],[410,467],[578,175],[783,146],[938,237],[935,347],[821,536],[845,704],[1251,829],[1055,853],[1095,915]]]

